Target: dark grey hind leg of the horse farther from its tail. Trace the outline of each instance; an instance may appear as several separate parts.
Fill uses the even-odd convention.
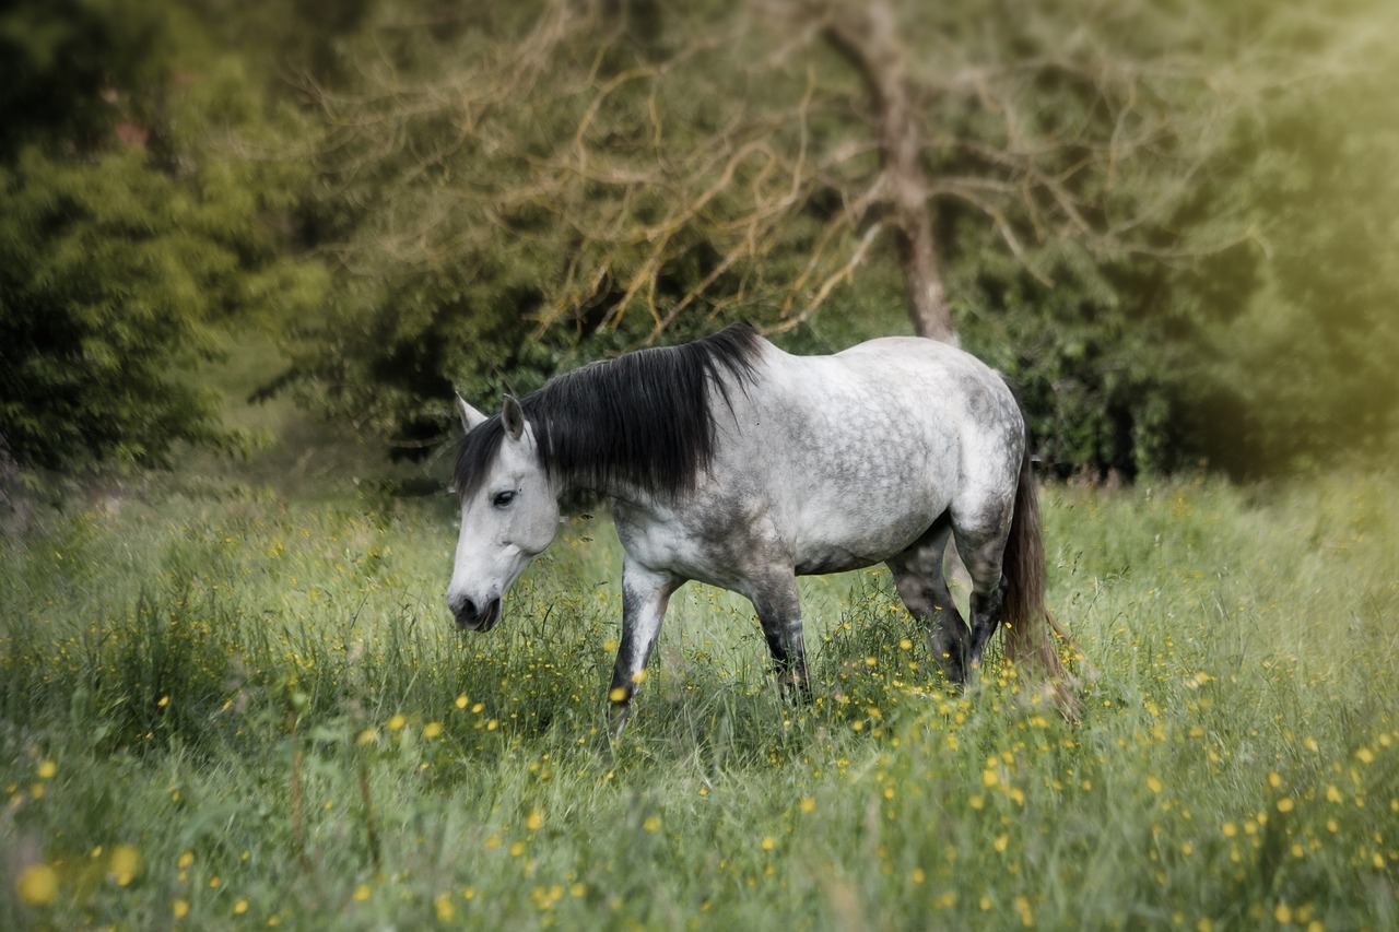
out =
[[[894,586],[909,613],[923,623],[928,649],[942,663],[953,683],[965,683],[971,661],[967,623],[963,621],[947,579],[943,577],[943,551],[951,523],[943,515],[904,553],[886,564],[894,574]]]

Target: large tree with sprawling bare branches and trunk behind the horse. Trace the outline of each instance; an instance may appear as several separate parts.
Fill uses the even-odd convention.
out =
[[[897,326],[876,302],[901,291],[916,332],[1023,383],[1053,459],[1171,466],[1207,452],[1196,361],[1267,248],[1260,202],[1202,192],[1273,155],[1240,133],[1357,31],[1319,13],[382,7],[358,76],[306,87],[343,274],[297,372],[416,446],[450,386],[527,390],[739,316],[820,344]]]

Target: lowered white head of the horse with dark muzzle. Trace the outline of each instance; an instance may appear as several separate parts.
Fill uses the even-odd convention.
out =
[[[462,536],[446,591],[456,626],[490,631],[501,599],[558,530],[558,497],[520,403],[505,396],[499,418],[457,397],[467,439],[457,465]]]

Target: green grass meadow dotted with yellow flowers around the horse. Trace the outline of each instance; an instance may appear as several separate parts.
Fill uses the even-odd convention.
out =
[[[445,495],[206,484],[0,563],[0,926],[1399,925],[1399,483],[1048,487],[1066,722],[953,694],[884,572],[803,584],[810,705],[687,586],[623,739],[578,521],[457,635]]]

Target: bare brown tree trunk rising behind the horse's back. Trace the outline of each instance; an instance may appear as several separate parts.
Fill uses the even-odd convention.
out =
[[[879,120],[884,196],[898,238],[914,330],[919,336],[957,343],[928,213],[918,115],[904,53],[894,39],[895,25],[888,0],[872,0],[832,11],[825,38],[859,71],[870,91]]]

